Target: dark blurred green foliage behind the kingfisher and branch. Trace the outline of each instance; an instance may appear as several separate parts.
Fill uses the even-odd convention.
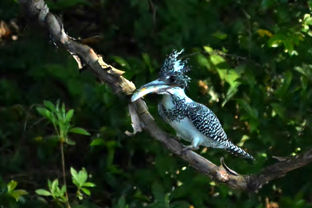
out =
[[[166,54],[184,48],[192,66],[187,95],[212,109],[232,141],[256,158],[249,164],[223,150],[197,151],[212,162],[220,164],[223,156],[238,173],[252,174],[277,162],[272,156],[311,147],[311,0],[46,3],[70,36],[100,36],[87,44],[137,87],[156,78]],[[62,195],[61,151],[51,137],[53,125],[37,111],[44,100],[58,99],[66,112],[74,110],[71,125],[90,133],[68,133],[73,142],[64,145],[71,207],[312,207],[311,165],[258,193],[216,184],[146,132],[127,136],[129,100],[90,72],[79,72],[72,56],[57,49],[16,1],[0,1],[0,21],[1,208],[66,206],[62,196],[45,192],[54,187]],[[156,121],[174,134],[158,116],[159,99],[145,100]],[[90,194],[77,192],[73,169],[95,184],[88,183]],[[48,180],[54,183],[48,186]]]

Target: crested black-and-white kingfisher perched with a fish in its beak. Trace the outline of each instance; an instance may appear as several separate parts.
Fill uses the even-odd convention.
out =
[[[191,80],[187,59],[178,59],[183,52],[174,50],[165,59],[158,79],[149,82],[131,97],[131,102],[150,94],[163,95],[158,104],[160,117],[176,131],[178,138],[191,142],[182,151],[196,150],[199,146],[225,149],[234,155],[254,159],[245,150],[233,144],[222,128],[217,116],[205,105],[197,103],[185,94]]]

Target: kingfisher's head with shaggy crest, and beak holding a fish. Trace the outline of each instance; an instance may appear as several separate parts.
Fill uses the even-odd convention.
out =
[[[170,94],[174,88],[185,89],[190,78],[185,75],[190,70],[186,66],[187,60],[178,60],[178,56],[183,52],[173,51],[168,55],[158,74],[158,79],[140,87],[131,98],[135,101],[149,93]],[[171,89],[171,90],[170,90]]]

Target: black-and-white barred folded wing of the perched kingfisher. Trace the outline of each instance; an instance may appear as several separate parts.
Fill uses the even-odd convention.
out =
[[[188,117],[191,119],[194,126],[204,135],[221,144],[227,144],[227,135],[217,116],[209,108],[196,103],[193,107],[189,108]]]

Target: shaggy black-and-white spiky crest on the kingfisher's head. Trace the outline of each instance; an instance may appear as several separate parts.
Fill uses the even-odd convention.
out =
[[[175,76],[178,80],[184,82],[184,87],[186,87],[191,79],[185,73],[190,71],[190,68],[186,65],[187,60],[178,59],[183,51],[183,49],[180,52],[174,50],[167,56],[160,69],[159,77]]]

